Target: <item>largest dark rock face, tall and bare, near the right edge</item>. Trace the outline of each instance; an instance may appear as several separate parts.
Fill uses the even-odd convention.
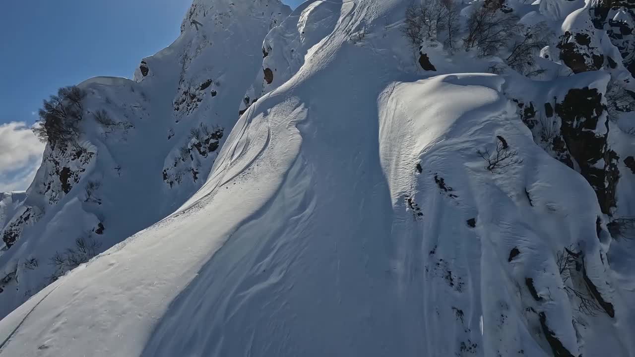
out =
[[[619,178],[618,157],[606,145],[608,133],[598,134],[602,126],[608,131],[608,119],[600,121],[605,110],[601,100],[602,93],[596,89],[574,88],[556,104],[556,114],[562,120],[561,136],[568,152],[598,195],[602,212],[610,214],[610,208],[615,206],[615,186]],[[600,159],[605,161],[603,168],[596,166]]]

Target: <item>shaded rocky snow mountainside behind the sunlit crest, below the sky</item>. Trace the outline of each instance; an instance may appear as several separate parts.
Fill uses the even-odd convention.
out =
[[[258,72],[262,38],[288,13],[277,0],[196,0],[180,37],[142,60],[134,81],[79,84],[81,133],[47,145],[22,205],[0,205],[0,316],[201,187]]]

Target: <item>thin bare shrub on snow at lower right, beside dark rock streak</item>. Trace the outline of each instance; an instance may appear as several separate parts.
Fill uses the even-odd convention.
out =
[[[556,264],[565,286],[565,292],[570,299],[575,299],[578,304],[577,310],[589,316],[596,316],[603,309],[589,293],[589,288],[585,285],[584,257],[581,252],[573,252],[570,246],[564,248],[556,254]]]

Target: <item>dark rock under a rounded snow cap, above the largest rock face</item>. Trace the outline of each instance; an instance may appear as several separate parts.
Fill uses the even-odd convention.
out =
[[[598,71],[604,64],[604,55],[592,46],[591,36],[585,33],[572,34],[566,31],[558,44],[560,59],[573,73]]]

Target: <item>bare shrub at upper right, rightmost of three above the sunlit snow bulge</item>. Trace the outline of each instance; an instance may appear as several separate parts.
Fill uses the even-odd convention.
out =
[[[522,26],[518,25],[518,27],[520,29]],[[536,65],[535,53],[544,48],[544,46],[549,45],[552,36],[551,30],[544,22],[524,29],[521,39],[514,41],[511,52],[505,62],[507,62],[509,67],[522,74],[535,76],[540,74],[540,71],[544,72],[544,70],[540,69],[530,70]]]

